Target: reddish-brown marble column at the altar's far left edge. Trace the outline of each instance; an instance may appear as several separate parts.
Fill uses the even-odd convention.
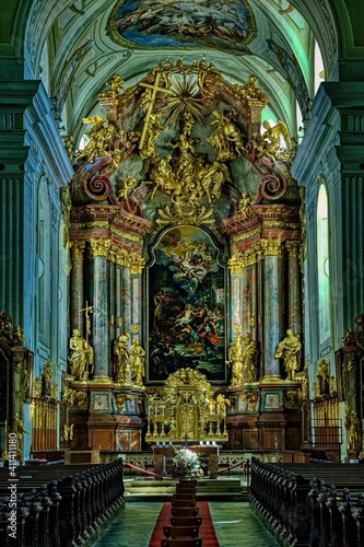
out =
[[[81,336],[84,335],[84,314],[80,310],[84,307],[83,296],[83,258],[84,258],[85,242],[71,242],[71,282],[70,282],[70,315],[71,315],[71,333],[78,329]]]

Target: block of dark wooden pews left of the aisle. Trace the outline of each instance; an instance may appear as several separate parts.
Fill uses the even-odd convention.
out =
[[[22,466],[14,475],[11,479],[9,469],[0,469],[1,547],[91,546],[125,507],[121,461]],[[13,496],[10,484],[15,485]],[[11,511],[16,511],[16,520]]]

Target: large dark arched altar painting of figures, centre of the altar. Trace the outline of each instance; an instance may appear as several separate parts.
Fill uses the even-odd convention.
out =
[[[180,369],[226,381],[225,268],[204,230],[163,232],[148,268],[148,380],[163,382]]]

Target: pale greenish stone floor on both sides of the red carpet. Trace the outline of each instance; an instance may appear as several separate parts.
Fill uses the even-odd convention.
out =
[[[161,502],[127,502],[94,547],[148,547]],[[210,513],[220,547],[275,547],[271,534],[255,516],[248,502],[210,501]]]

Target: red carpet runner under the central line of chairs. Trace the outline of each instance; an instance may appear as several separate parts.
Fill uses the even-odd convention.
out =
[[[198,501],[197,507],[200,508],[198,516],[202,516],[199,534],[199,537],[202,539],[202,547],[219,547],[208,502]],[[155,523],[149,547],[161,547],[161,539],[164,538],[163,526],[171,526],[171,501],[166,501],[162,508],[160,516]]]

